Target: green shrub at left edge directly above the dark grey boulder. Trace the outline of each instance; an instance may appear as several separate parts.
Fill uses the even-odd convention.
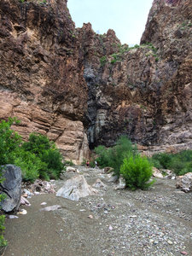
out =
[[[20,149],[21,137],[10,127],[18,122],[17,119],[9,119],[0,123],[0,166],[14,164],[14,156]]]

